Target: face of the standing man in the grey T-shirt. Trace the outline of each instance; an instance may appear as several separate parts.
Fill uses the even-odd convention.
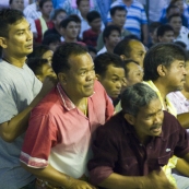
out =
[[[4,37],[4,51],[14,58],[24,58],[33,51],[33,33],[24,17],[16,24],[9,25],[9,37]]]

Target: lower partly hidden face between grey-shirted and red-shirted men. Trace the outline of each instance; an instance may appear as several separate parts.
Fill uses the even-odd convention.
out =
[[[56,76],[56,74],[55,74],[51,66],[49,63],[45,63],[45,64],[42,66],[40,74],[39,75],[36,75],[36,76],[38,78],[38,80],[40,80],[42,82],[44,82],[44,80],[48,75]]]

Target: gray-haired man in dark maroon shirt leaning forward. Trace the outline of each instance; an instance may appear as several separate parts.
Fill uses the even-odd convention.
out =
[[[185,129],[162,110],[157,94],[143,83],[126,88],[121,106],[122,111],[96,132],[91,182],[107,189],[176,189],[161,167],[174,154],[189,163]]]

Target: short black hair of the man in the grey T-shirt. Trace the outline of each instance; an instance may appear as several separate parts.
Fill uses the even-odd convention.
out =
[[[9,26],[22,22],[24,15],[19,10],[2,9],[0,11],[0,37],[9,38]]]

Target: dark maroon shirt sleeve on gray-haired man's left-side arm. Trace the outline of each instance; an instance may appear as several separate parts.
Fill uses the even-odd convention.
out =
[[[93,143],[94,156],[87,165],[90,180],[93,185],[98,185],[114,173],[118,151],[111,135],[104,126],[99,127],[96,132],[96,140]]]

